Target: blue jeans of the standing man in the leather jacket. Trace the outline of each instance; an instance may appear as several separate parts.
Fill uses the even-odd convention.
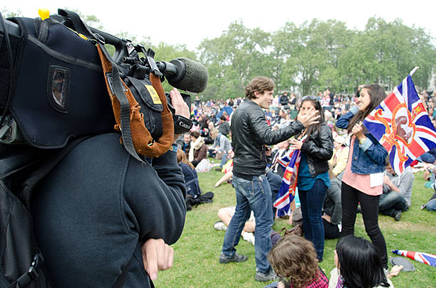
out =
[[[271,250],[272,216],[271,188],[264,175],[253,177],[251,181],[233,175],[237,206],[224,236],[222,253],[233,257],[235,246],[239,243],[242,229],[249,219],[251,210],[256,218],[254,231],[254,250],[256,255],[256,272],[268,273],[271,270],[266,255]]]

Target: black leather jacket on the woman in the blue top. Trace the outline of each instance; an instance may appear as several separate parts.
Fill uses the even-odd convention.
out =
[[[306,154],[311,177],[328,171],[328,160],[333,156],[333,136],[326,123],[311,134],[301,146],[301,153]]]

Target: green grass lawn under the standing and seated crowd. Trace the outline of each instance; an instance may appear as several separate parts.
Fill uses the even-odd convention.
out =
[[[254,246],[244,240],[239,241],[237,251],[248,256],[242,263],[219,264],[224,231],[214,230],[213,224],[219,220],[219,208],[236,205],[234,188],[225,183],[214,188],[214,183],[224,175],[217,171],[199,174],[203,192],[213,191],[213,203],[197,206],[187,212],[185,229],[180,240],[172,245],[175,250],[174,265],[170,270],[161,271],[155,282],[156,287],[264,287],[266,283],[254,281],[256,265]],[[420,210],[432,195],[424,187],[422,172],[415,174],[412,192],[412,206],[403,213],[399,222],[380,215],[380,228],[388,246],[388,257],[395,257],[391,250],[411,250],[436,254],[436,213]],[[274,230],[291,228],[287,220],[278,219]],[[362,216],[358,214],[355,235],[367,238]],[[323,262],[320,266],[330,275],[333,269],[333,250],[336,240],[326,240]],[[410,260],[415,265],[414,272],[400,272],[392,282],[395,287],[436,287],[436,267]]]

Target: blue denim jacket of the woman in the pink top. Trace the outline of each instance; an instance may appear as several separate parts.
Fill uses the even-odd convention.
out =
[[[353,107],[350,112],[343,114],[336,121],[336,127],[346,129],[348,122],[357,112],[358,107]],[[354,141],[351,171],[355,174],[373,174],[385,171],[385,159],[388,156],[388,151],[370,133],[365,133],[365,137],[366,140],[362,145],[359,144],[358,139]]]

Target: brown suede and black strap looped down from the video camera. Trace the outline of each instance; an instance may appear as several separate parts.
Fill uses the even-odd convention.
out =
[[[165,127],[165,129],[162,136],[153,141],[150,132],[145,127],[143,115],[140,113],[140,106],[128,86],[125,85],[125,82],[120,78],[118,64],[113,61],[106,50],[103,37],[90,31],[90,28],[81,20],[76,12],[58,9],[58,13],[67,16],[73,23],[73,28],[78,33],[88,38],[93,38],[98,42],[98,54],[100,55],[106,86],[110,99],[112,100],[115,121],[117,122],[115,129],[120,130],[123,145],[128,153],[144,164],[144,161],[140,159],[137,153],[152,158],[168,151],[173,142],[174,123],[159,76],[150,73],[150,82],[155,88],[160,102],[162,102],[162,127]],[[147,59],[150,60],[148,56],[149,55],[147,55]],[[113,97],[113,95],[115,95],[115,97]]]

